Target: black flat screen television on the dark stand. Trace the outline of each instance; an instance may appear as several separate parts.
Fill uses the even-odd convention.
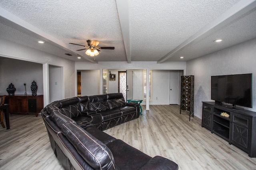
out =
[[[252,108],[252,74],[211,77],[211,99],[216,104],[232,104]],[[227,105],[228,106],[228,105]]]

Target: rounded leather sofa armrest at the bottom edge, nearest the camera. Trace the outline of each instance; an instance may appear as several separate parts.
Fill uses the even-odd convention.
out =
[[[179,166],[175,162],[162,156],[155,156],[139,170],[178,170],[178,168]]]

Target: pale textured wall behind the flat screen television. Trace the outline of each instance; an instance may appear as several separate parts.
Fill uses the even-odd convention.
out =
[[[224,42],[223,42],[224,43]],[[256,39],[187,62],[186,75],[195,76],[194,115],[202,118],[202,102],[211,100],[211,76],[252,73],[252,108],[256,111]]]

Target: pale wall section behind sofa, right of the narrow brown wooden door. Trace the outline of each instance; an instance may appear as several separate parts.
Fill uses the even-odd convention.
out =
[[[100,70],[81,70],[81,95],[100,94]]]

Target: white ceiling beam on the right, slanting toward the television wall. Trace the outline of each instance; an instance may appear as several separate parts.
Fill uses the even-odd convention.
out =
[[[188,45],[192,45],[197,41],[203,39],[204,37],[207,37],[208,35],[214,33],[218,29],[224,27],[224,25],[227,25],[228,23],[236,20],[237,18],[239,18],[240,16],[244,15],[246,12],[249,12],[254,8],[256,8],[256,0],[241,0],[240,2],[232,6],[230,9],[228,9],[226,12],[221,14],[219,17],[217,17],[215,20],[210,22],[208,25],[200,29],[186,41],[178,45],[175,49],[173,49],[160,60],[158,60],[157,63],[162,63],[166,61],[170,57],[176,55],[176,53],[182,51],[182,49],[184,49]]]

